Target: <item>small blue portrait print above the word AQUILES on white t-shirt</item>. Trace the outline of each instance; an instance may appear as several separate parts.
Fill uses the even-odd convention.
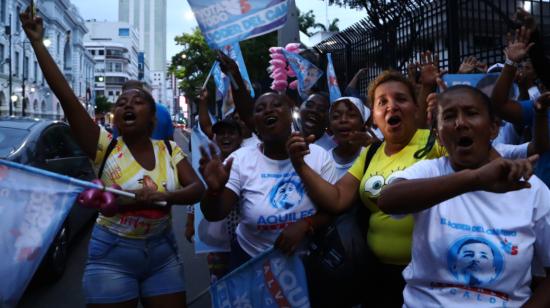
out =
[[[284,177],[273,186],[269,193],[269,202],[276,209],[289,210],[302,202],[304,186],[293,177]]]

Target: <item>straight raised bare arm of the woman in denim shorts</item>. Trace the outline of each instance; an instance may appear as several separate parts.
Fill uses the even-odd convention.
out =
[[[42,43],[44,32],[42,18],[39,16],[31,18],[30,7],[19,17],[44,73],[44,78],[59,99],[77,142],[88,157],[94,160],[99,140],[99,126],[86,113],[48,49]]]

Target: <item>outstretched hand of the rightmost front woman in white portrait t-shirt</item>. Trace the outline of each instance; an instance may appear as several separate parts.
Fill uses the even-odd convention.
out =
[[[538,155],[527,159],[495,159],[481,168],[472,170],[475,173],[475,187],[495,193],[505,193],[531,187],[528,180],[533,175],[534,164]]]

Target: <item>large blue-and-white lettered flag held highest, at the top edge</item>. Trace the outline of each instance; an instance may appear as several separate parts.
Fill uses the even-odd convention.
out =
[[[284,26],[287,0],[187,0],[208,46],[226,45]]]

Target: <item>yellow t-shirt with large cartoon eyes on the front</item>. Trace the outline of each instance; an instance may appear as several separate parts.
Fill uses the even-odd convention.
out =
[[[392,156],[384,152],[386,143],[382,143],[363,174],[365,158],[369,148],[365,148],[348,172],[361,181],[359,196],[363,204],[372,212],[367,233],[367,241],[378,259],[386,264],[406,265],[411,259],[413,231],[412,215],[403,219],[394,219],[378,209],[376,200],[382,188],[389,184],[397,171],[404,170],[418,161],[414,153],[426,145],[430,131],[419,129],[409,144]],[[432,150],[422,159],[444,156],[445,149],[435,144]],[[403,200],[406,202],[406,200]]]

